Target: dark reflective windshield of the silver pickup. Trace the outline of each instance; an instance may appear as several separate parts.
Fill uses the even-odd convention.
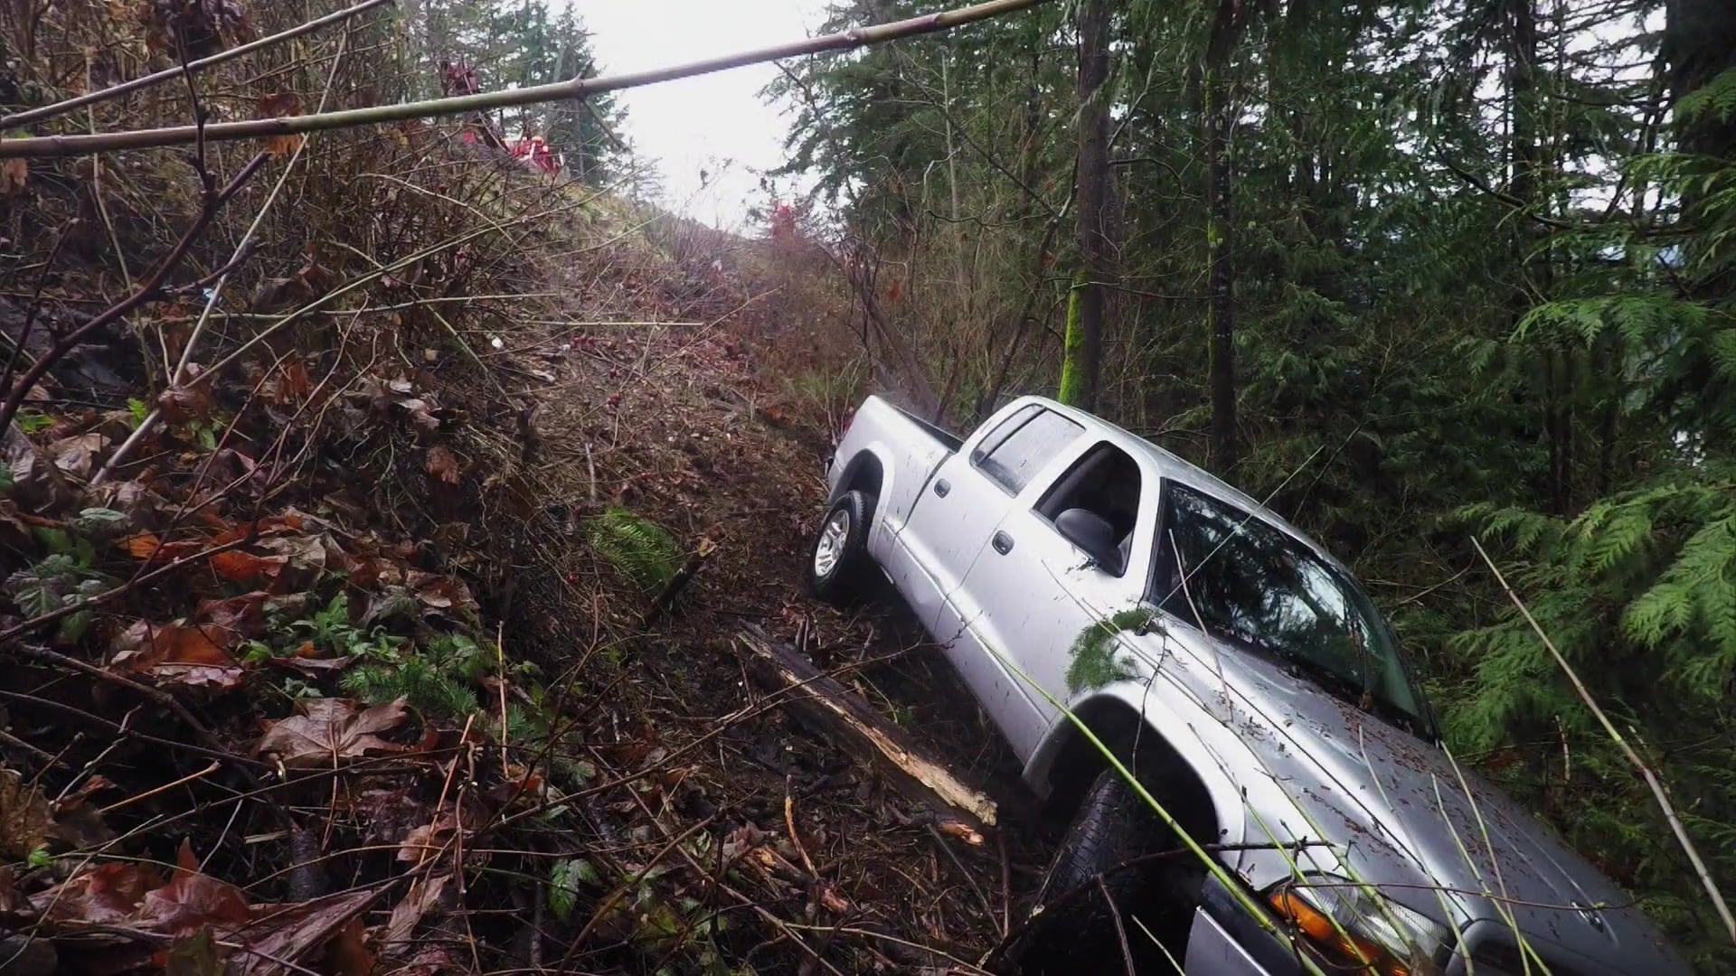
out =
[[[1392,632],[1345,573],[1224,502],[1174,481],[1165,495],[1158,606],[1413,731],[1432,731]]]

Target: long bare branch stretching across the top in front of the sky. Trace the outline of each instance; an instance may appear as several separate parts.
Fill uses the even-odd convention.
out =
[[[696,75],[712,75],[715,71],[760,64],[764,61],[823,54],[828,50],[852,50],[871,43],[885,43],[908,36],[948,31],[951,28],[1014,14],[1047,2],[1049,0],[988,0],[984,3],[943,10],[939,14],[924,14],[904,21],[875,24],[871,28],[856,28],[832,35],[774,43],[753,50],[691,61],[687,64],[653,68],[648,71],[628,71],[623,75],[601,75],[595,78],[571,78],[568,82],[552,82],[547,85],[529,85],[524,89],[509,89],[500,92],[479,92],[474,96],[356,108],[319,115],[299,115],[290,118],[219,122],[205,127],[175,125],[167,129],[139,129],[132,132],[102,132],[95,135],[33,135],[28,139],[0,139],[0,160],[19,156],[85,156],[90,153],[111,153],[118,149],[187,146],[201,137],[207,142],[226,142],[236,139],[262,139],[267,135],[297,135],[332,129],[351,129],[356,125],[380,125],[387,122],[406,122],[411,118],[434,118],[465,115],[472,111],[490,111],[496,108],[556,102],[564,99],[585,99],[601,92],[616,92],[621,89],[637,89],[660,82],[693,78]]]

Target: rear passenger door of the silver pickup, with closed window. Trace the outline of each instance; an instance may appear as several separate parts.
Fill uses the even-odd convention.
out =
[[[901,584],[901,589],[996,722],[1007,721],[1009,709],[1028,712],[1029,702],[1005,667],[970,639],[969,623],[981,610],[958,592],[960,584],[977,561],[988,557],[991,537],[1007,512],[1019,504],[1029,505],[1029,500],[1019,498],[1083,432],[1083,427],[1040,403],[1007,410],[934,472],[901,533],[910,561],[904,571],[927,575],[915,580],[918,585]],[[934,596],[927,601],[911,596],[918,587]]]

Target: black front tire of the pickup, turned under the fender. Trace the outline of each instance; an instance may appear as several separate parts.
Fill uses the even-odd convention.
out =
[[[1010,971],[1076,976],[1125,969],[1116,917],[1097,887],[1101,875],[1120,913],[1135,967],[1141,973],[1174,973],[1163,950],[1184,962],[1205,867],[1191,854],[1177,854],[1113,868],[1179,846],[1175,834],[1120,773],[1104,769],[1055,847],[1036,898],[1040,910],[1009,952]],[[1163,948],[1153,945],[1147,931]]]

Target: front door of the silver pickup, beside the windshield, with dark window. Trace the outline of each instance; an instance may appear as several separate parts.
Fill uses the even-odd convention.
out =
[[[1156,476],[1120,446],[1076,445],[1055,467],[1009,509],[953,599],[972,611],[974,651],[1000,663],[1021,693],[1023,712],[1009,709],[998,719],[1021,759],[1059,717],[1031,683],[1059,702],[1073,698],[1073,644],[1141,601],[1156,524]],[[1069,542],[1055,528],[1069,509],[1108,523],[1115,549],[1090,554]]]

